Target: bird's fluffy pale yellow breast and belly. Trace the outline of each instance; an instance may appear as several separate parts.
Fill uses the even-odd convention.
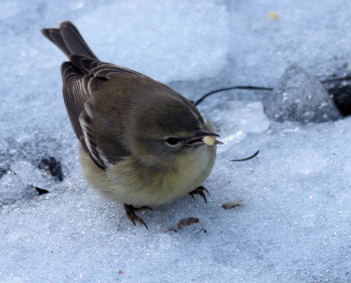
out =
[[[128,157],[105,172],[84,150],[79,153],[85,178],[97,193],[120,203],[153,206],[171,202],[200,186],[212,170],[216,145],[201,145],[176,158],[172,170],[158,171],[136,167],[133,157]]]

